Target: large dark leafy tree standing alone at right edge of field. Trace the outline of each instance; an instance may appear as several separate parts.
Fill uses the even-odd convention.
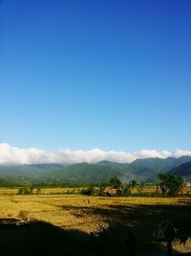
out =
[[[183,178],[179,175],[160,173],[159,179],[159,188],[161,189],[163,196],[177,196],[182,189]]]

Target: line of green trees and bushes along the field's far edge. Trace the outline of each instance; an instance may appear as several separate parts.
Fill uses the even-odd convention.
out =
[[[78,184],[68,184],[63,182],[53,182],[51,184],[39,182],[32,183],[31,180],[23,179],[23,182],[14,183],[10,180],[5,180],[0,178],[1,187],[18,187],[18,194],[20,195],[30,195],[30,194],[40,194],[41,188],[46,187],[71,187],[71,188],[83,188],[81,190],[82,195],[89,196],[131,196],[132,190],[137,188],[138,196],[141,196],[145,184],[143,182],[138,183],[137,180],[132,179],[128,183],[122,183],[117,176],[110,178],[109,182],[78,185]],[[183,178],[179,175],[159,173],[159,183],[157,184],[156,194],[161,193],[162,196],[175,197],[177,196],[183,188]],[[35,192],[34,192],[35,191]]]

